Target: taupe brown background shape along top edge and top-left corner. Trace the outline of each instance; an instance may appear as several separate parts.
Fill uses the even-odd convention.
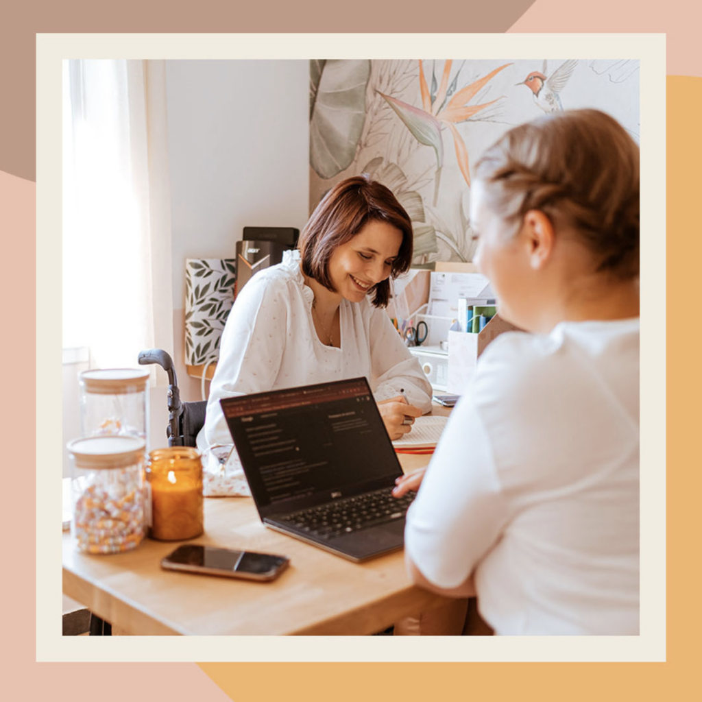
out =
[[[35,180],[36,32],[505,32],[532,1],[473,7],[435,0],[428,11],[424,0],[404,0],[400,14],[392,4],[355,0],[352,11],[342,10],[335,18],[324,0],[121,0],[106,6],[91,0],[24,0],[13,6],[13,22],[0,28],[0,119],[6,135],[0,138],[0,170]]]

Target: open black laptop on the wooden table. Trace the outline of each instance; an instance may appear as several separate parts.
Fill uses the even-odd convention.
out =
[[[366,378],[220,400],[263,523],[355,562],[404,544],[415,494]]]

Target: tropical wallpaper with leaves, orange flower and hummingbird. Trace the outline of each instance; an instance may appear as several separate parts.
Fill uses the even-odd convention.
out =
[[[578,107],[638,142],[638,61],[312,60],[310,212],[369,173],[412,219],[414,266],[470,261],[470,164],[510,127]]]

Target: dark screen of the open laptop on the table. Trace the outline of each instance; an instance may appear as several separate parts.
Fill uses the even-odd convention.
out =
[[[259,511],[294,508],[300,498],[324,493],[358,494],[402,475],[365,378],[220,404]]]

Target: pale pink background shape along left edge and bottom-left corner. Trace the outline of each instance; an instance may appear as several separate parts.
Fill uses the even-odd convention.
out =
[[[99,698],[105,702],[197,697],[204,702],[229,699],[197,665],[159,663],[124,668],[115,663],[65,665],[35,663],[36,621],[34,604],[34,472],[35,397],[34,378],[34,244],[37,186],[0,171],[0,231],[6,248],[6,270],[0,277],[0,294],[8,300],[4,319],[6,338],[25,341],[14,348],[4,345],[2,367],[6,370],[2,424],[6,428],[4,451],[4,519],[1,547],[3,578],[0,599],[4,637],[4,689],[17,700],[52,698],[57,702]],[[50,295],[44,289],[42,294]],[[41,300],[39,300],[41,304]],[[60,359],[57,359],[60,363]],[[41,389],[39,392],[41,397]],[[51,401],[51,399],[48,399]],[[60,407],[58,407],[60,416]],[[19,418],[11,421],[11,418]],[[9,430],[11,428],[11,431]],[[56,618],[60,627],[60,617]],[[99,645],[99,644],[98,644]],[[138,694],[138,696],[136,696]]]

